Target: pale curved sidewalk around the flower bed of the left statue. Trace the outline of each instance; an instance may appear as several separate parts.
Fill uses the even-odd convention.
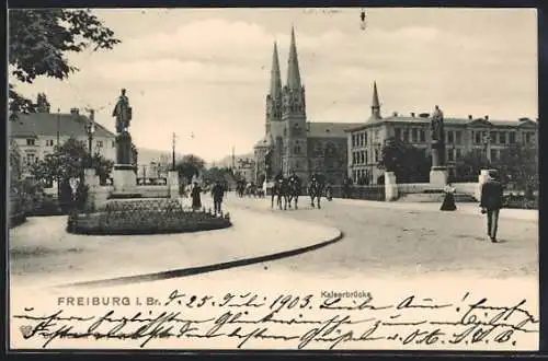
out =
[[[65,284],[261,261],[256,258],[306,252],[341,235],[333,228],[239,208],[230,217],[233,225],[225,230],[134,236],[69,234],[66,217],[30,218],[10,230],[11,282]]]

